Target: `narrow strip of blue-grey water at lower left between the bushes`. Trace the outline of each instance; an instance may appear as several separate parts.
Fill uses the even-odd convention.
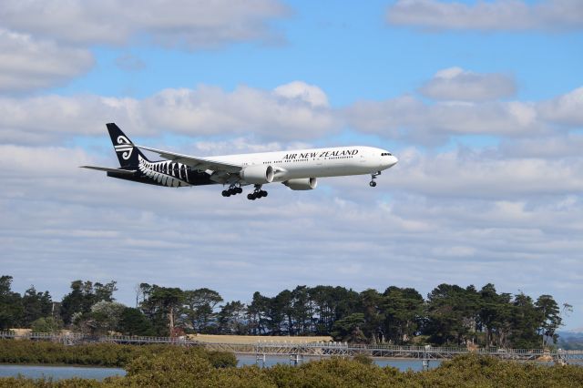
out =
[[[126,371],[119,368],[87,368],[82,366],[0,365],[0,377],[16,377],[18,374],[31,379],[45,377],[63,380],[80,377],[101,381],[109,376],[124,376]]]

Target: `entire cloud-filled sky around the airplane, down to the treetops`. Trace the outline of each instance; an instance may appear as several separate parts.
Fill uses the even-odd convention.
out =
[[[0,260],[18,291],[493,282],[583,327],[578,0],[18,4],[0,11]],[[374,190],[226,201],[78,170],[117,163],[109,121],[201,156],[363,144],[400,163]]]

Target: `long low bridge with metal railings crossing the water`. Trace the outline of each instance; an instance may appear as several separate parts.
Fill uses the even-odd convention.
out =
[[[557,362],[560,364],[577,363],[583,365],[583,350],[566,351],[561,349],[503,349],[434,346],[395,346],[388,344],[364,345],[348,342],[285,342],[281,337],[266,337],[265,341],[253,343],[200,342],[188,337],[138,337],[125,335],[87,335],[62,332],[0,332],[0,338],[29,339],[34,341],[61,342],[66,345],[89,342],[109,342],[120,344],[171,344],[178,346],[203,346],[210,351],[225,351],[240,354],[255,354],[258,364],[264,365],[268,356],[286,356],[292,364],[304,359],[327,357],[354,357],[358,354],[374,358],[416,359],[423,362],[424,368],[430,361],[449,360],[460,354],[476,353],[493,356],[503,360]],[[277,338],[277,341],[273,341]]]

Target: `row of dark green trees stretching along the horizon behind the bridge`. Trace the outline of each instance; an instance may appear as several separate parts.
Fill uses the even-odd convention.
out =
[[[115,301],[116,282],[72,281],[61,301],[31,286],[11,290],[0,277],[0,329],[120,332],[127,335],[329,335],[336,341],[390,344],[540,348],[557,342],[563,314],[551,295],[498,292],[440,284],[424,298],[413,288],[362,292],[344,287],[297,286],[251,301],[224,301],[208,288],[182,290],[141,283],[136,307]]]

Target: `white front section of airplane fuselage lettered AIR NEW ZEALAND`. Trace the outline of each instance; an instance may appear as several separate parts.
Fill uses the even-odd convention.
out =
[[[373,174],[398,162],[389,151],[363,146],[262,152],[208,159],[237,164],[243,168],[253,165],[271,166],[275,170],[274,182]]]

